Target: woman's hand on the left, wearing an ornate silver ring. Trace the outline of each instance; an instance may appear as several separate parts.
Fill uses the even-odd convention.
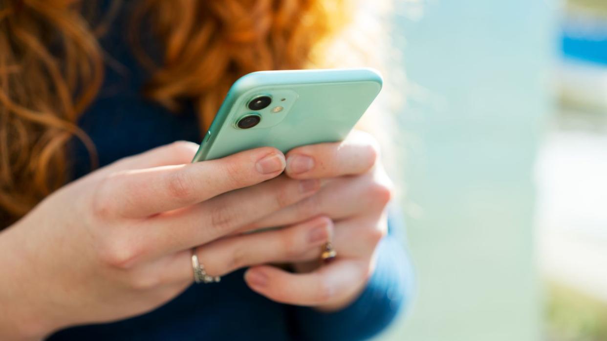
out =
[[[330,238],[323,217],[229,236],[320,184],[279,176],[285,158],[273,148],[190,164],[197,147],[176,142],[101,168],[2,231],[0,339],[40,339],[150,311],[192,283],[191,248],[199,245],[205,269],[222,276],[302,260]]]

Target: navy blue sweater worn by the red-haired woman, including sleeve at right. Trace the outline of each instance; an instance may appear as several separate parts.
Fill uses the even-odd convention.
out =
[[[123,10],[123,11],[126,11]],[[107,53],[103,89],[83,114],[80,127],[98,148],[100,164],[177,140],[200,142],[197,116],[186,105],[168,112],[141,96],[149,76],[123,38],[121,13],[101,39]],[[120,65],[120,66],[117,66]],[[73,177],[90,171],[83,145],[73,145]],[[394,230],[379,246],[378,266],[361,297],[337,313],[273,302],[251,291],[243,270],[220,283],[192,285],[150,313],[113,323],[75,326],[49,340],[363,340],[374,336],[402,310],[410,293],[411,271]],[[94,307],[91,307],[94,309]]]

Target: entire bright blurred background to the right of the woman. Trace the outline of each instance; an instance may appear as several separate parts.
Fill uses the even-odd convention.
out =
[[[392,21],[416,295],[379,340],[607,340],[607,1]]]

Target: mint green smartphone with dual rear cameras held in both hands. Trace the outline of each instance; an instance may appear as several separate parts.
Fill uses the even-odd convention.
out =
[[[192,162],[342,141],[381,87],[380,74],[369,68],[246,74],[232,85]]]

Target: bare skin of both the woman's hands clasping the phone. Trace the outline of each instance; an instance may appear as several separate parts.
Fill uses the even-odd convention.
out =
[[[387,230],[376,146],[355,131],[286,156],[266,147],[190,164],[198,146],[175,142],[66,185],[0,233],[0,339],[151,311],[191,285],[192,248],[212,276],[250,267],[246,283],[269,299],[344,308]],[[267,227],[283,228],[243,234]],[[321,265],[329,240],[338,256]]]

